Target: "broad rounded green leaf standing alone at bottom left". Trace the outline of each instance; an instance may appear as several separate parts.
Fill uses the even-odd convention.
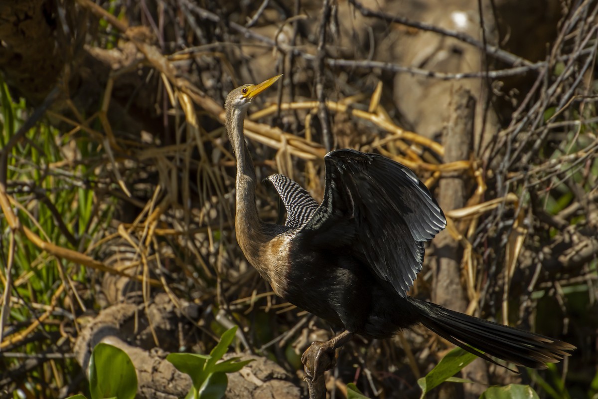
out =
[[[99,343],[89,363],[91,399],[134,399],[137,374],[129,356],[115,346]]]

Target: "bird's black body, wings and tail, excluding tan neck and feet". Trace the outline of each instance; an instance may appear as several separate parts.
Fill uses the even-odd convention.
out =
[[[422,323],[493,363],[470,346],[536,368],[573,348],[407,296],[422,267],[423,243],[446,224],[443,212],[413,172],[392,160],[337,150],[326,165],[318,208],[291,179],[268,179],[288,214],[279,234],[288,251],[284,299],[332,325],[378,339]]]

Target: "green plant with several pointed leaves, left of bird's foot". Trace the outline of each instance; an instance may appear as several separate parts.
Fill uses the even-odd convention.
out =
[[[188,374],[193,381],[193,388],[187,394],[186,399],[222,398],[228,384],[226,373],[239,371],[252,361],[252,359],[239,361],[239,358],[235,357],[216,363],[228,351],[228,346],[233,342],[236,331],[236,326],[225,331],[222,334],[220,342],[212,349],[209,355],[168,355],[166,360],[172,363],[181,373]]]

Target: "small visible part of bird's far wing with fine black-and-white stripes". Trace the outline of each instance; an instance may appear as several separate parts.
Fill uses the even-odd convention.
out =
[[[318,209],[318,202],[297,182],[285,175],[270,175],[264,181],[269,181],[274,186],[285,206],[285,226],[303,226]]]

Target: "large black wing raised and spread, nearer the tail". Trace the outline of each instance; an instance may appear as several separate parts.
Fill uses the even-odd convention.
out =
[[[446,226],[443,211],[398,162],[349,149],[324,161],[324,200],[300,233],[313,245],[349,248],[405,296],[422,270],[423,242]]]

